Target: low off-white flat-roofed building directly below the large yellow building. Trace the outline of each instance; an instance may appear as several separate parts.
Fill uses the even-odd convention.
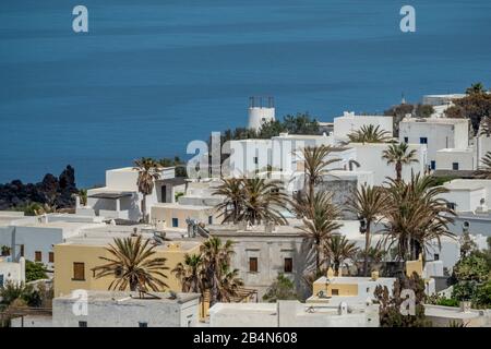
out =
[[[194,327],[199,293],[83,291],[55,298],[53,327]],[[85,302],[83,305],[81,302]],[[80,312],[74,312],[79,309]]]

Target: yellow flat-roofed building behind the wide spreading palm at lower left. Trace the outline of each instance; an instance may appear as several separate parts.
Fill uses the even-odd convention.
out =
[[[93,268],[105,264],[99,257],[109,257],[106,251],[113,238],[77,238],[55,245],[55,297],[70,294],[73,290],[108,290],[112,277],[96,279]],[[200,241],[169,241],[156,248],[155,257],[166,258],[167,270],[164,280],[168,290],[181,291],[179,280],[170,273],[179,262],[183,262],[184,254],[199,254]]]

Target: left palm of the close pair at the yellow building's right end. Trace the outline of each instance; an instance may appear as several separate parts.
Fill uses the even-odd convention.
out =
[[[181,282],[182,292],[202,293],[205,290],[205,275],[201,254],[185,254],[184,263],[179,262],[172,269]]]

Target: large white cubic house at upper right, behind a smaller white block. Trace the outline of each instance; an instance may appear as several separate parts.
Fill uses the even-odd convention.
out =
[[[469,120],[405,118],[399,123],[399,141],[427,145],[428,163],[424,165],[434,170],[438,168],[438,151],[467,149],[469,147]]]

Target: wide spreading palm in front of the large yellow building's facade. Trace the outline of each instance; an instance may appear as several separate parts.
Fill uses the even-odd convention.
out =
[[[109,262],[95,267],[96,278],[111,276],[115,279],[109,285],[109,290],[123,291],[130,287],[130,291],[160,291],[167,288],[164,281],[167,276],[163,273],[166,267],[166,258],[154,257],[156,245],[148,245],[149,240],[142,242],[142,237],[115,239],[115,244],[109,244],[106,251],[110,257],[99,256]]]

